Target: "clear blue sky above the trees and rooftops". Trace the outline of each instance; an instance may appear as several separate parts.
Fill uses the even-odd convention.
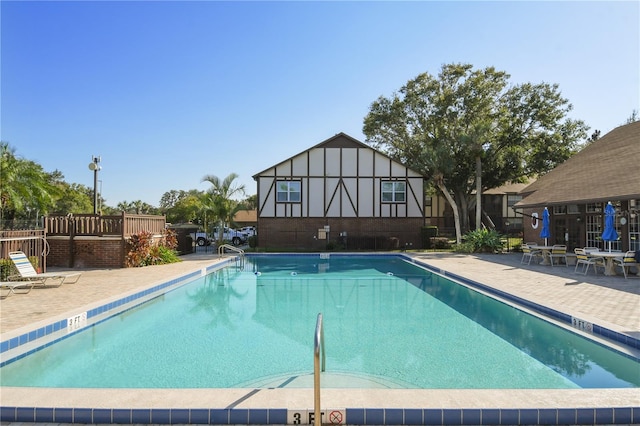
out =
[[[1,138],[93,187],[159,205],[345,132],[442,64],[557,83],[603,134],[640,109],[640,3],[6,1]]]

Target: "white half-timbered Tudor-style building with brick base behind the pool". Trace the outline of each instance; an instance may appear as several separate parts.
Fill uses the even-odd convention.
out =
[[[253,179],[260,247],[420,247],[423,176],[344,133]]]

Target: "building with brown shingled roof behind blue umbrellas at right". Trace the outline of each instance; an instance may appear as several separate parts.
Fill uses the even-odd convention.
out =
[[[523,189],[514,208],[527,220],[524,240],[538,241],[545,207],[552,244],[606,247],[604,207],[616,208],[614,250],[640,250],[640,121],[613,129]]]

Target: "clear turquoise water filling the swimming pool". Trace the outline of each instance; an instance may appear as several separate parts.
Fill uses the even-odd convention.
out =
[[[5,365],[2,386],[255,387],[327,373],[406,388],[640,386],[640,363],[398,257],[250,256]]]

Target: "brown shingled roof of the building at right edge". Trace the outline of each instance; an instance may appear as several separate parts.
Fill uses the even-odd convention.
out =
[[[613,129],[520,194],[516,208],[640,199],[640,121]]]

